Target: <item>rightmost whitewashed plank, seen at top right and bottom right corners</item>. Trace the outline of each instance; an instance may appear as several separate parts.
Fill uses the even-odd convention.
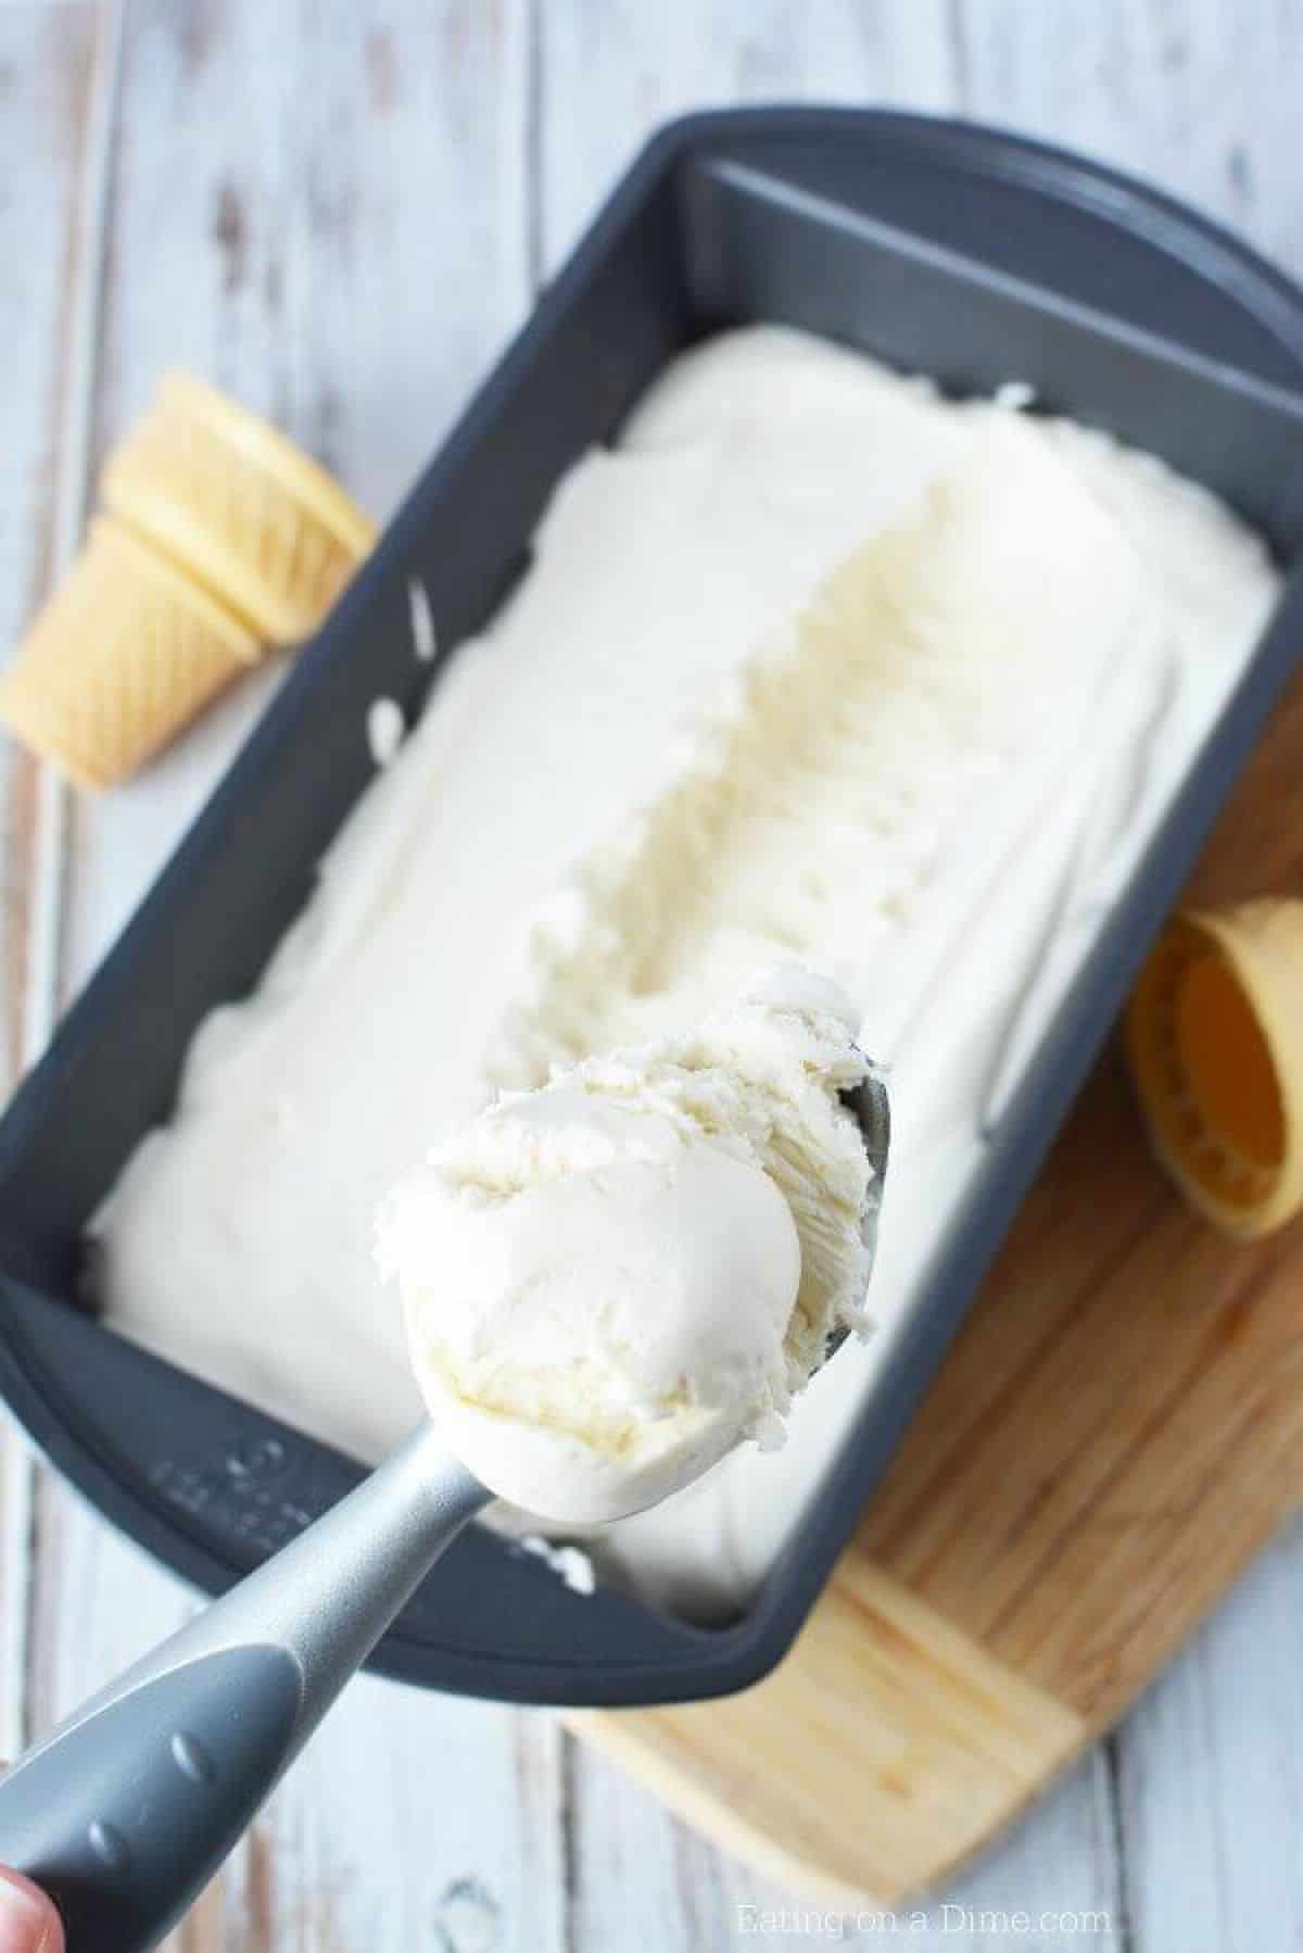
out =
[[[1297,8],[1069,0],[1055,10],[992,10],[963,0],[959,20],[971,113],[1151,176],[1299,275]],[[1258,803],[1264,818],[1250,857],[1272,832],[1297,832],[1293,789],[1282,766]],[[1248,893],[1242,867],[1227,869],[1223,877],[1209,863],[1209,893]],[[1192,1932],[1235,1949],[1278,1943],[1303,1910],[1303,1875],[1287,1842],[1289,1812],[1303,1805],[1303,1767],[1297,1746],[1282,1754],[1276,1742],[1289,1724],[1282,1678],[1297,1670],[1297,1635],[1278,1596],[1299,1598],[1297,1543],[1274,1551],[1268,1568],[1248,1576],[1244,1596],[1201,1631],[1114,1740],[1133,1932],[1147,1953],[1176,1953]],[[1262,1781],[1262,1758],[1270,1797],[1244,1797],[1244,1781]]]

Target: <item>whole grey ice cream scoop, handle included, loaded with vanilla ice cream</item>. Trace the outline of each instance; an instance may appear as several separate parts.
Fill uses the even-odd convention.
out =
[[[182,1916],[418,1582],[492,1498],[471,1465],[490,1480],[514,1478],[529,1457],[545,1457],[559,1512],[590,1496],[631,1512],[760,1434],[764,1412],[781,1416],[783,1392],[856,1318],[887,1166],[885,1088],[830,1004],[817,980],[785,976],[686,1039],[580,1066],[508,1103],[428,1168],[445,1191],[479,1187],[483,1234],[469,1219],[475,1191],[465,1201],[440,1193],[443,1205],[422,1211],[432,1187],[418,1176],[397,1195],[381,1236],[406,1289],[428,1400],[441,1414],[461,1391],[484,1396],[467,1396],[467,1418],[449,1416],[447,1432],[422,1424],[348,1498],[0,1781],[0,1861],[55,1896],[70,1945],[129,1953]],[[819,1141],[828,1141],[824,1205]],[[651,1178],[633,1172],[643,1164]],[[860,1199],[848,1207],[854,1185]],[[514,1207],[535,1187],[570,1193],[561,1211],[547,1201],[533,1215]],[[715,1199],[731,1228],[754,1228],[754,1238],[694,1236],[694,1217]],[[670,1240],[688,1230],[678,1260],[666,1260],[660,1223]],[[551,1271],[541,1254],[549,1228],[559,1244]],[[625,1234],[635,1279],[619,1307],[611,1254]],[[445,1334],[432,1332],[428,1256],[440,1242],[453,1252],[449,1281],[461,1273],[473,1285]],[[602,1285],[596,1310],[584,1305],[584,1267]],[[529,1271],[543,1277],[533,1303],[522,1281]],[[740,1310],[752,1328],[729,1326],[717,1285],[752,1277],[756,1309]],[[672,1301],[670,1328],[621,1355],[660,1293]],[[549,1322],[561,1338],[551,1359]],[[494,1418],[498,1439],[506,1434],[496,1447],[484,1437]],[[559,1437],[539,1445],[531,1430]],[[449,1439],[465,1439],[469,1463]]]

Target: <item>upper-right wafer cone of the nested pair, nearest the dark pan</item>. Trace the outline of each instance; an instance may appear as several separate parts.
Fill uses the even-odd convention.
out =
[[[273,644],[316,629],[375,541],[324,469],[186,373],[162,381],[109,455],[100,492]]]

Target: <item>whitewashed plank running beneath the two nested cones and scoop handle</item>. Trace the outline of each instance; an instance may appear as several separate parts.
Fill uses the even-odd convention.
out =
[[[525,305],[522,35],[518,8],[459,0],[133,6],[98,447],[189,363],[387,514]],[[273,682],[76,803],[66,992]],[[189,1607],[57,1486],[37,1596],[41,1726]],[[559,1945],[559,1783],[549,1721],[361,1682],[176,1945]]]

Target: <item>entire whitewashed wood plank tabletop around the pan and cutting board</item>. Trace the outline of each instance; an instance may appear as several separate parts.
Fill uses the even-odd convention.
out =
[[[1004,121],[1155,176],[1303,270],[1297,0],[123,0],[121,61],[117,20],[117,0],[0,6],[6,641],[68,547],[84,430],[102,451],[170,363],[266,410],[385,516],[615,170],[686,107]],[[0,758],[10,1076],[273,682],[68,820]],[[189,1605],[45,1475],[29,1525],[27,1482],[10,1447],[10,1744]],[[1008,1945],[981,1920],[1000,1910],[1102,1910],[1092,1943],[1141,1953],[1303,1937],[1299,1621],[1295,1535],[908,1943]],[[750,1937],[740,1908],[793,1904],[549,1717],[363,1680],[178,1945],[705,1949]],[[811,1937],[789,1920],[760,1943]]]

